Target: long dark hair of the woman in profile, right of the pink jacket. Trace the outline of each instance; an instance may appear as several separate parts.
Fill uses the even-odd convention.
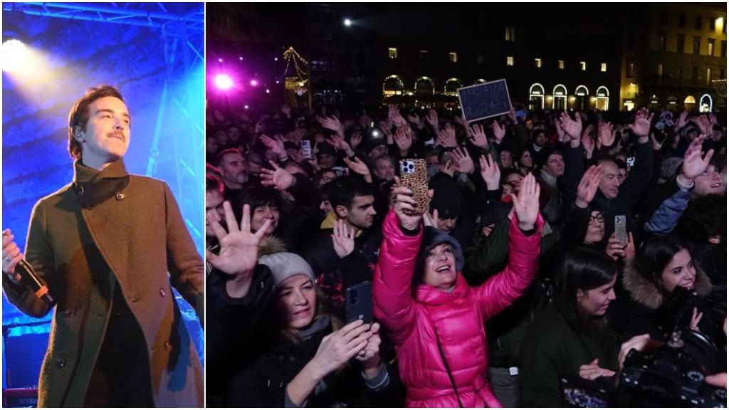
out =
[[[601,329],[605,317],[588,317],[577,303],[577,290],[588,291],[607,285],[617,275],[617,266],[604,252],[575,247],[564,255],[554,278],[555,303],[567,322],[578,330]]]

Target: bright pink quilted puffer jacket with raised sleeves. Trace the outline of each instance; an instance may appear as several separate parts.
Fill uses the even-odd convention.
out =
[[[486,378],[486,321],[515,301],[536,276],[542,225],[539,215],[537,233],[525,236],[516,217],[512,219],[508,266],[483,285],[469,287],[459,272],[451,293],[420,285],[413,298],[410,287],[423,229],[416,236],[405,235],[394,211],[387,215],[375,269],[373,308],[395,343],[408,407],[459,407],[435,331],[461,403],[501,407]]]

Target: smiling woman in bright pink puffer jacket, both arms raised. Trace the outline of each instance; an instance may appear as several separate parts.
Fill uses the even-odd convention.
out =
[[[397,187],[394,193],[397,203],[383,224],[373,303],[375,317],[397,349],[406,404],[500,407],[486,378],[486,321],[515,301],[537,273],[543,225],[539,185],[529,174],[518,197],[512,197],[509,264],[477,287],[469,287],[461,276],[458,242],[432,227],[422,228],[408,188]]]

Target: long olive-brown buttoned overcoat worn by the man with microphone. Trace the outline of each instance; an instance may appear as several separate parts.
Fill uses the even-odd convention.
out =
[[[128,175],[122,160],[98,172],[74,163],[74,182]],[[39,380],[39,406],[80,407],[120,287],[144,333],[160,407],[203,406],[203,369],[171,285],[203,318],[203,262],[169,187],[130,175],[120,193],[83,209],[71,183],[34,207],[26,260],[55,299]],[[3,276],[8,300],[42,317],[47,306]]]

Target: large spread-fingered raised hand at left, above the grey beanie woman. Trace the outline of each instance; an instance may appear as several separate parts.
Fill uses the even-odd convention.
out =
[[[229,275],[251,275],[258,263],[258,244],[270,227],[266,220],[256,232],[251,232],[251,206],[243,206],[243,219],[240,225],[235,220],[230,202],[223,202],[227,232],[217,220],[208,217],[208,223],[220,243],[220,252],[215,255],[207,250],[207,259],[219,271]]]

